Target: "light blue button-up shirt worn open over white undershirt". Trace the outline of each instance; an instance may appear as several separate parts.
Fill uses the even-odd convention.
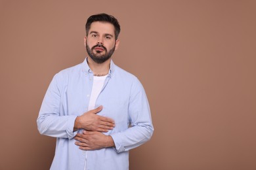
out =
[[[75,145],[75,118],[88,111],[93,86],[93,72],[87,59],[57,73],[49,88],[37,118],[41,134],[56,137],[56,150],[51,169],[58,170],[127,170],[129,150],[152,137],[154,127],[148,99],[142,84],[131,73],[117,67],[113,61],[95,107],[98,113],[114,119],[116,127],[104,133],[111,135],[116,148],[80,150]],[[130,125],[130,126],[129,126]]]

